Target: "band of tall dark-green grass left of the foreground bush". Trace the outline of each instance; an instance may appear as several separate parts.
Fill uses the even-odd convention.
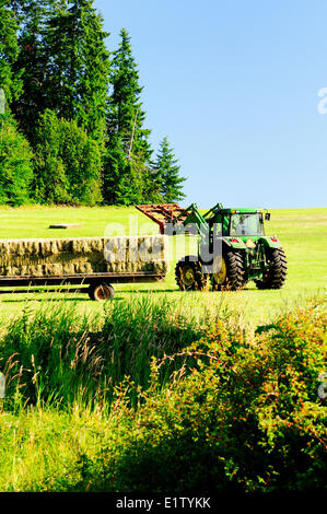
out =
[[[39,400],[71,405],[110,402],[125,376],[147,388],[152,357],[175,353],[198,340],[217,318],[229,318],[221,305],[199,316],[183,303],[151,295],[104,305],[103,313],[81,315],[78,303],[25,306],[0,332],[0,371],[5,375],[7,407]],[[180,359],[162,369],[164,384]],[[137,392],[131,389],[131,401]]]

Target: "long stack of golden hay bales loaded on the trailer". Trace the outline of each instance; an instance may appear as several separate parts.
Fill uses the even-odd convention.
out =
[[[164,236],[0,240],[0,276],[164,274]]]

